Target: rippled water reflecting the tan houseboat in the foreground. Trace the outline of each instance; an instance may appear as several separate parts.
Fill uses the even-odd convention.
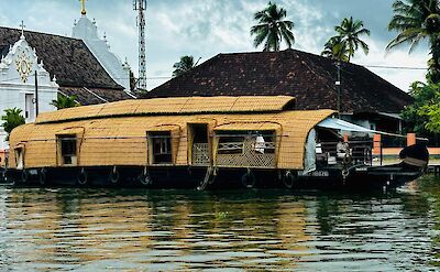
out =
[[[0,270],[433,270],[431,198],[2,187]]]

